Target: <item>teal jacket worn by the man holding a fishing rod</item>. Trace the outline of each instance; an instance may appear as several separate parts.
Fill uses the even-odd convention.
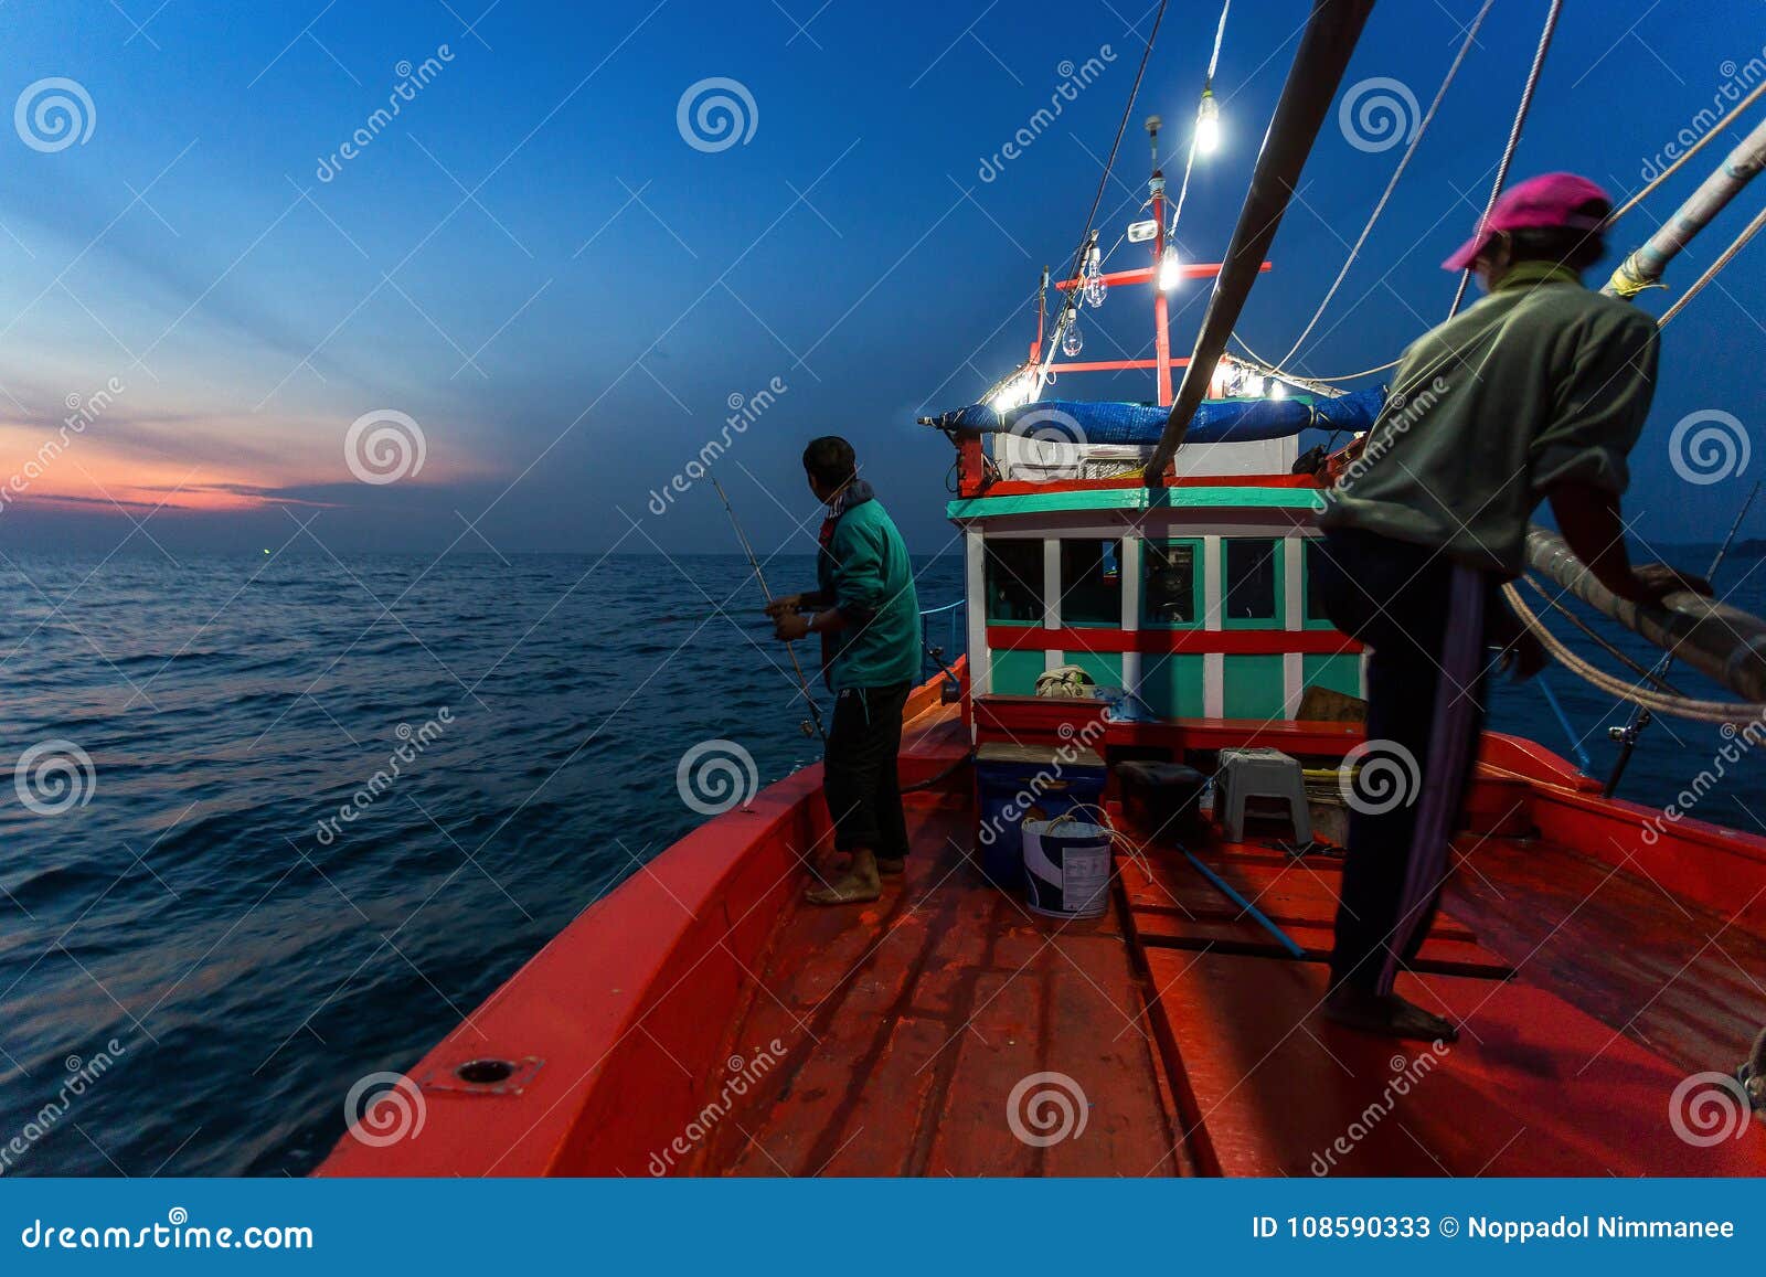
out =
[[[828,689],[894,687],[920,676],[920,599],[908,546],[883,503],[865,498],[834,519],[816,556],[818,597],[844,625],[823,639]]]

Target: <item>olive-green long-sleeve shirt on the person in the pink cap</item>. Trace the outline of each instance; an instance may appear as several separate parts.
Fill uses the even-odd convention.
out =
[[[1513,267],[1404,351],[1367,449],[1326,495],[1319,523],[1519,576],[1547,487],[1625,491],[1657,351],[1648,314],[1563,267]]]

